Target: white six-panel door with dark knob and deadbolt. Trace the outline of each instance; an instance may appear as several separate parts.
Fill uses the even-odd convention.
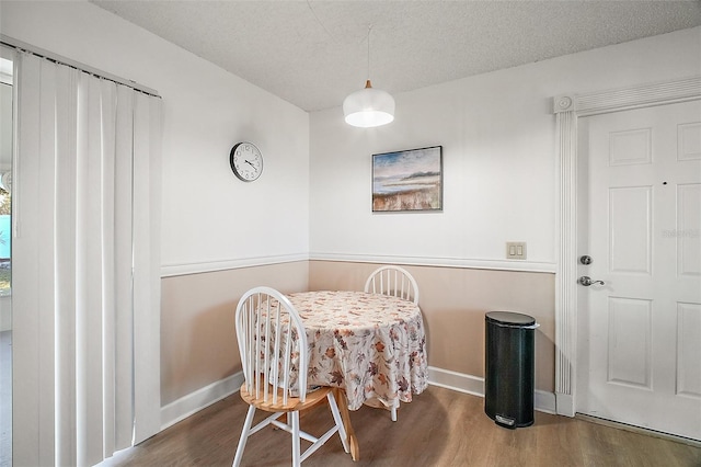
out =
[[[701,440],[701,102],[578,124],[577,411]]]

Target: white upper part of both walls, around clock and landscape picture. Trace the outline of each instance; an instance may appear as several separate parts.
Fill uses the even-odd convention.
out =
[[[552,96],[701,73],[697,27],[398,94],[395,122],[360,129],[340,107],[310,124],[291,104],[90,3],[0,5],[3,34],[163,96],[164,274],[308,251],[554,271]],[[229,170],[239,140],[265,156],[255,183]],[[433,145],[444,147],[444,212],[372,214],[371,155]],[[506,241],[528,242],[528,260],[505,261]]]

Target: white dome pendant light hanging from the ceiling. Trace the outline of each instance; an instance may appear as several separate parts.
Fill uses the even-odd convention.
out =
[[[368,27],[368,79],[365,88],[343,101],[343,115],[353,126],[370,128],[387,125],[394,119],[394,98],[389,92],[372,88],[370,83],[370,32]]]

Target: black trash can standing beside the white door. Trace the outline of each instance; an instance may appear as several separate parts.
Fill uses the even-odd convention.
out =
[[[536,320],[510,311],[485,315],[484,412],[509,429],[533,424]]]

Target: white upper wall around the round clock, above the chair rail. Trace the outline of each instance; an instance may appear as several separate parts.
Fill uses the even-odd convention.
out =
[[[2,34],[163,98],[163,273],[307,258],[309,116],[298,107],[85,1],[0,3]],[[229,168],[254,143],[257,182]]]

